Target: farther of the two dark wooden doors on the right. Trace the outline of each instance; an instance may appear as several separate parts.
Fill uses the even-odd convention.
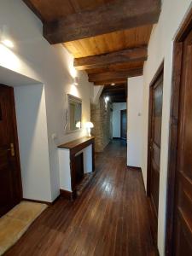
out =
[[[163,72],[150,86],[149,143],[148,143],[148,196],[151,210],[151,226],[157,241],[159,186],[160,186],[160,140],[163,101]]]

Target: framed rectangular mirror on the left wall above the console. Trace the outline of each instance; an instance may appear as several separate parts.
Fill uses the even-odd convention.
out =
[[[81,129],[82,101],[78,97],[67,95],[68,117],[67,131],[79,131]]]

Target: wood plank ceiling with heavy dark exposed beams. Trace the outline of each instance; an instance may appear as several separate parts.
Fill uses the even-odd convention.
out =
[[[95,85],[119,84],[143,74],[147,46],[159,19],[160,0],[23,0],[43,22],[44,38],[63,44],[74,67]],[[106,89],[107,89],[106,88]],[[125,90],[124,90],[125,91]]]

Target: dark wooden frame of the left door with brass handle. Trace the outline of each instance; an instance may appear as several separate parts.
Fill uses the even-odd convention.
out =
[[[12,115],[13,115],[13,124],[14,124],[15,163],[16,163],[16,170],[17,170],[16,176],[18,180],[17,202],[19,203],[23,198],[23,189],[22,189],[22,178],[21,178],[21,170],[20,170],[20,149],[19,149],[17,120],[16,120],[16,111],[15,111],[15,93],[14,93],[14,88],[9,85],[0,84],[0,87],[8,88],[10,92],[10,97],[11,97],[11,106],[12,106]]]

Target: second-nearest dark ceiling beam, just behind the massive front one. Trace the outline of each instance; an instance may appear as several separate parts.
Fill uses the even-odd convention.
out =
[[[74,67],[77,70],[88,70],[92,68],[106,67],[111,64],[127,63],[132,61],[146,61],[148,58],[147,46],[122,49],[104,55],[94,55],[74,59]]]

